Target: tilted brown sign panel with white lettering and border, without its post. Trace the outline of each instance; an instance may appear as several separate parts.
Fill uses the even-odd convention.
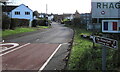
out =
[[[101,45],[109,47],[109,48],[113,48],[113,49],[118,48],[117,40],[113,40],[113,39],[109,39],[109,38],[105,38],[105,37],[99,37],[99,36],[95,36],[93,38],[93,40],[95,43],[101,44]]]

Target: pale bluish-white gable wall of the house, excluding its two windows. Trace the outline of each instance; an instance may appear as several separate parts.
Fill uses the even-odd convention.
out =
[[[19,15],[16,15],[15,12],[20,12]],[[30,14],[26,15],[25,12],[30,12]],[[29,8],[27,8],[24,4],[12,10],[10,14],[11,18],[19,18],[19,19],[29,19],[33,20],[33,12]]]

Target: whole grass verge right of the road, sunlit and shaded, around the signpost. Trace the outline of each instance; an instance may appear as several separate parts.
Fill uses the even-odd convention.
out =
[[[94,72],[101,72],[102,67],[102,46],[80,37],[81,34],[90,35],[91,31],[85,29],[74,28],[75,36],[73,47],[71,50],[70,58],[68,61],[68,70],[94,70]],[[120,41],[119,41],[120,42]],[[120,44],[119,44],[120,46]],[[107,49],[107,70],[114,70],[117,66],[118,51],[108,48]]]

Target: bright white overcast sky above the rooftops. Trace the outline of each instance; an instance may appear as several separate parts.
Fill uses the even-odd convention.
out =
[[[39,13],[63,14],[75,13],[89,13],[91,11],[91,0],[9,0],[15,5],[25,4],[33,11],[37,10]]]

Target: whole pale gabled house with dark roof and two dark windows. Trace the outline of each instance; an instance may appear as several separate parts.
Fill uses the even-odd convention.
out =
[[[25,6],[24,4],[19,6],[3,6],[2,9],[10,18],[28,19],[30,21],[29,27],[31,27],[33,11],[28,6]]]

